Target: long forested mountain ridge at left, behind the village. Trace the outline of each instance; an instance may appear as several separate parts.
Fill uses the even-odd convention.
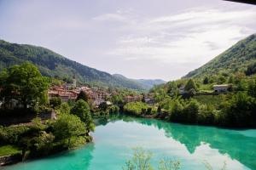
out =
[[[26,61],[37,65],[39,71],[47,77],[59,77],[65,80],[72,80],[73,77],[76,77],[79,82],[99,86],[137,90],[145,89],[140,83],[130,79],[114,77],[107,72],[98,71],[89,66],[79,64],[47,48],[0,40],[0,71],[10,65],[16,65]]]

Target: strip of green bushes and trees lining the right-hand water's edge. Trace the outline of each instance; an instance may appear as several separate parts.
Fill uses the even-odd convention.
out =
[[[239,111],[239,115],[225,111],[215,111],[206,105],[199,105],[195,99],[170,99],[167,109],[160,104],[147,105],[143,102],[131,102],[124,105],[123,112],[132,116],[157,118],[167,122],[178,122],[191,125],[203,125],[229,128],[256,128],[254,116],[247,120],[247,112]],[[234,118],[236,117],[236,118]],[[246,123],[248,122],[248,123]]]

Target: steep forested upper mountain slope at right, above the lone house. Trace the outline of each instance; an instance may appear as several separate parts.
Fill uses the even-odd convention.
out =
[[[237,42],[195,71],[190,71],[185,78],[216,75],[221,71],[227,73],[246,71],[247,67],[253,63],[256,63],[256,34]]]

